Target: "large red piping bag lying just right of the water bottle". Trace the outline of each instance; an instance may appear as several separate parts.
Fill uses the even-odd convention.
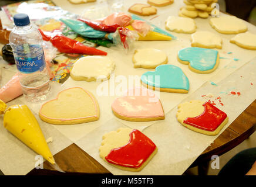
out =
[[[42,34],[43,40],[50,41],[54,47],[56,47],[60,53],[78,53],[78,54],[92,54],[92,55],[103,55],[106,56],[107,53],[102,50],[95,49],[93,47],[88,47],[80,43],[79,41],[72,40],[69,37],[57,34],[56,36],[50,37],[38,29]]]

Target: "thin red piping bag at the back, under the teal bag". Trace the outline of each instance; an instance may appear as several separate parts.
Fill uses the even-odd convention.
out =
[[[80,20],[81,22],[85,22],[87,25],[89,25],[90,27],[92,27],[95,30],[100,30],[103,32],[108,32],[108,33],[114,33],[114,32],[116,32],[116,29],[118,27],[120,27],[120,25],[118,25],[116,23],[113,25],[106,25],[104,23],[94,22],[94,21],[82,19],[82,18],[79,18],[78,20]]]

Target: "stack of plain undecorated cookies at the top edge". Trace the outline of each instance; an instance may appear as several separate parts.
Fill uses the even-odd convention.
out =
[[[208,18],[218,0],[183,0],[185,6],[180,8],[178,16],[186,18]]]

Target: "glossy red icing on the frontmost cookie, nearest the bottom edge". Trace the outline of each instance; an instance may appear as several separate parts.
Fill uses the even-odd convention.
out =
[[[117,140],[118,141],[118,140]],[[139,130],[130,133],[129,142],[119,148],[114,148],[105,159],[112,164],[129,168],[139,168],[156,150],[156,145]]]

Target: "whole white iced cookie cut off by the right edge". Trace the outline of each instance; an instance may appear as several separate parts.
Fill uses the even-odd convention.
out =
[[[256,50],[256,34],[250,32],[237,34],[230,42],[244,49]]]

